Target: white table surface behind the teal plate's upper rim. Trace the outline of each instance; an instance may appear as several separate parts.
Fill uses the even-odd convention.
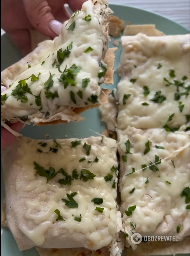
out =
[[[110,4],[120,4],[160,13],[186,28],[189,28],[189,0],[108,0]],[[1,30],[1,34],[3,31]]]

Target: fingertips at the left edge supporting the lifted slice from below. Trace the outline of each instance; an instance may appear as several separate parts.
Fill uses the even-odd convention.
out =
[[[1,92],[6,90],[4,86],[1,85]],[[21,122],[11,124],[10,127],[16,132],[19,132],[23,128],[24,124]],[[11,145],[15,141],[16,137],[7,131],[4,127],[1,127],[1,151],[4,150],[6,147]]]

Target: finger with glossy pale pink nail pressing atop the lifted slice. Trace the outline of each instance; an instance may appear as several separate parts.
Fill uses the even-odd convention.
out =
[[[23,2],[27,16],[34,28],[50,38],[56,37],[57,34],[50,29],[50,22],[54,21],[55,26],[57,24],[59,27],[62,24],[55,21],[48,2],[46,0],[23,0]]]

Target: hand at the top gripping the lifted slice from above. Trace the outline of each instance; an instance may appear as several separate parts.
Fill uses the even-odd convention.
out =
[[[50,38],[56,37],[70,14],[86,0],[1,0],[1,28],[5,30],[23,56],[31,52],[29,30],[36,29]],[[60,23],[61,22],[61,23]]]

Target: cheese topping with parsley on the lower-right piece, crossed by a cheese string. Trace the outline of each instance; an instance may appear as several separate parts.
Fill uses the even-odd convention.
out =
[[[128,127],[118,136],[121,213],[128,243],[132,231],[182,240],[189,235],[189,132]],[[179,224],[183,227],[177,232]]]

